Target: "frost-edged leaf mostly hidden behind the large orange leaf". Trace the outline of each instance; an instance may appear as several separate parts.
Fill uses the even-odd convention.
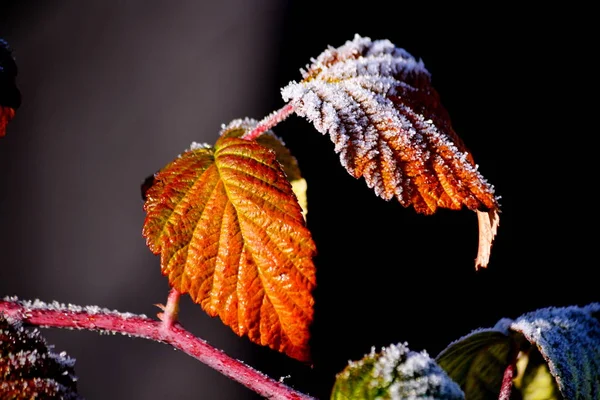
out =
[[[236,119],[224,126],[220,135],[227,137],[241,137],[248,131],[256,128],[257,125],[258,121],[255,119]],[[280,137],[276,136],[273,131],[269,130],[263,132],[256,141],[275,151],[277,161],[279,161],[283,167],[283,172],[285,172],[285,175],[292,184],[292,190],[298,199],[298,204],[302,207],[302,213],[306,219],[306,214],[308,213],[308,202],[306,198],[307,184],[306,180],[302,178],[298,160],[286,147],[285,142]]]

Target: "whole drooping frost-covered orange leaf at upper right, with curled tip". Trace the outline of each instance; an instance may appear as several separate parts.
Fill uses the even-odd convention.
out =
[[[477,211],[476,268],[486,267],[499,222],[494,188],[453,130],[422,61],[388,40],[355,36],[321,53],[282,96],[329,134],[342,165],[385,200],[423,214]]]

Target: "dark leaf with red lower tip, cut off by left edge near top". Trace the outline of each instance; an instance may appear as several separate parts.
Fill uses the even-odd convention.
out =
[[[6,41],[0,39],[0,137],[21,105],[21,93],[15,83],[17,64]]]

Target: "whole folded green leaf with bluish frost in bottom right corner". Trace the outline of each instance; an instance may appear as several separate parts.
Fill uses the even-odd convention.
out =
[[[515,361],[520,398],[600,398],[599,313],[600,303],[591,303],[503,319],[451,343],[436,361],[469,399],[497,399],[503,370]]]

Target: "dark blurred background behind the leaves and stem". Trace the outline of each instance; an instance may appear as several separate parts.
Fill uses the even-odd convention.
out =
[[[585,13],[585,11],[581,11]],[[389,39],[432,75],[502,196],[489,267],[471,211],[417,215],[343,169],[327,136],[275,128],[308,181],[318,286],[309,368],[182,298],[180,321],[232,357],[327,398],[348,360],[407,342],[437,355],[500,318],[599,301],[595,99],[579,14],[498,3],[228,0],[0,3],[23,104],[0,140],[0,295],[154,316],[168,293],[141,236],[140,183],[221,124],[260,119],[328,45]],[[583,121],[583,124],[582,124]],[[258,398],[168,346],[44,330],[87,399]]]

